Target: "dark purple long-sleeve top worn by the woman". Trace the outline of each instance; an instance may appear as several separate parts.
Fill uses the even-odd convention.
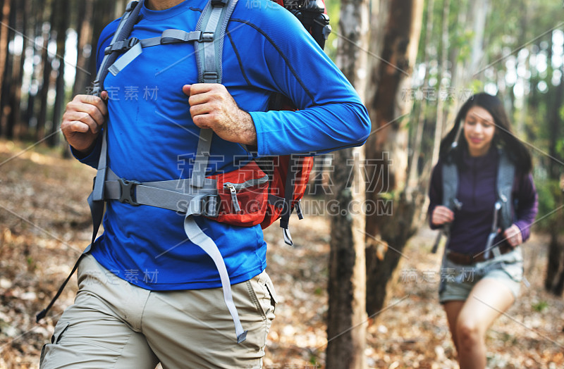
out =
[[[496,178],[499,163],[497,149],[492,147],[484,156],[464,156],[464,168],[458,169],[457,199],[462,203],[455,211],[450,226],[450,239],[447,247],[464,254],[478,254],[484,251],[494,222],[494,204],[497,201]],[[429,189],[429,224],[431,213],[443,202],[443,162],[435,166]],[[530,173],[517,173],[511,191],[513,224],[521,230],[523,241],[529,239],[530,226],[537,215],[538,199]],[[517,206],[513,206],[517,204]],[[494,239],[494,244],[503,242],[503,230]]]

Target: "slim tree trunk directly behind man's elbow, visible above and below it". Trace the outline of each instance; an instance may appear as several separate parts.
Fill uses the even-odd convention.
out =
[[[363,99],[367,70],[369,19],[367,0],[341,4],[337,65]],[[363,99],[364,100],[364,99]],[[351,165],[351,163],[353,163]],[[333,156],[335,200],[331,214],[329,257],[329,313],[327,318],[327,369],[367,368],[366,270],[364,261],[364,163],[363,149],[336,151]]]

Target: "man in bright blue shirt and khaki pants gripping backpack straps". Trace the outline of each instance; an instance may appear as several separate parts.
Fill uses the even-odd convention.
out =
[[[131,37],[195,30],[206,4],[146,0]],[[114,21],[100,36],[98,65],[116,27]],[[61,123],[73,154],[95,167],[107,122],[109,168],[128,180],[157,182],[190,177],[201,128],[214,131],[212,175],[256,156],[322,153],[369,135],[353,87],[299,21],[270,0],[235,6],[221,84],[197,83],[196,63],[191,43],[149,47],[106,77],[101,99],[75,96]],[[298,111],[268,111],[274,93]],[[104,234],[80,261],[75,304],[44,347],[42,368],[154,368],[159,361],[164,368],[260,368],[276,303],[260,226],[195,217],[225,262],[247,330],[238,344],[218,269],[186,237],[183,220],[164,208],[106,203]]]

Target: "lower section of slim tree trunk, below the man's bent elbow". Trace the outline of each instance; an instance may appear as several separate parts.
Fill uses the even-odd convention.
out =
[[[326,368],[364,369],[367,316],[362,149],[337,151],[333,160],[335,200],[342,210],[331,214]]]

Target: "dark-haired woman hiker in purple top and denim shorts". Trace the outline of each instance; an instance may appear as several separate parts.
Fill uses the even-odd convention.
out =
[[[486,330],[519,293],[520,245],[537,215],[531,169],[502,102],[470,97],[441,142],[429,190],[431,228],[448,234],[439,300],[461,369],[486,367]]]

